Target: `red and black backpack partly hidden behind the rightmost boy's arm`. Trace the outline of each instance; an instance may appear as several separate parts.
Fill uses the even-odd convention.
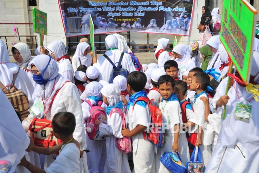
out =
[[[187,104],[191,105],[190,102],[184,101],[182,106],[181,106],[183,123],[187,123],[188,122],[187,116],[186,116],[186,105]],[[193,110],[193,112],[194,112],[194,110]],[[195,145],[196,145],[197,133],[191,133],[191,135],[189,135],[189,132],[187,130],[186,138],[187,138],[187,141],[188,141],[189,151],[193,152],[193,149],[195,148]]]

